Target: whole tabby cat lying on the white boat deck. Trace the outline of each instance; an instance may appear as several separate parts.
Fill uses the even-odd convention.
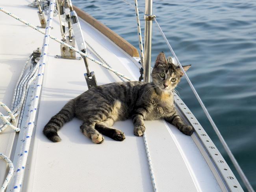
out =
[[[188,70],[190,65],[184,66]],[[100,144],[103,135],[114,140],[125,139],[124,133],[113,129],[115,121],[131,118],[134,135],[142,136],[145,131],[144,120],[164,118],[186,134],[193,133],[193,127],[186,125],[174,106],[173,89],[183,76],[182,70],[168,63],[161,52],[152,70],[152,82],[117,82],[92,87],[70,100],[58,114],[46,124],[43,133],[53,142],[61,141],[57,131],[72,118],[83,121],[80,129],[84,135]]]

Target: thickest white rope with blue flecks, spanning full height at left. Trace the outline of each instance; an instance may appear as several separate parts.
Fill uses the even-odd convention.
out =
[[[48,42],[50,39],[50,31],[51,31],[51,24],[52,24],[52,18],[54,14],[54,7],[55,7],[55,0],[51,0],[50,2],[50,7],[49,7],[49,13],[48,13],[48,18],[47,18],[47,24],[45,28],[45,38],[43,41],[43,48],[42,48],[42,54],[41,58],[39,61],[39,69],[38,69],[38,74],[37,74],[37,79],[36,79],[36,88],[33,93],[33,98],[32,98],[32,103],[30,106],[30,113],[28,116],[28,125],[27,129],[24,133],[22,146],[20,148],[20,153],[19,153],[19,159],[17,162],[17,168],[15,169],[15,179],[14,179],[14,184],[13,184],[13,191],[14,192],[19,192],[22,187],[22,181],[24,177],[24,172],[25,172],[25,167],[26,167],[26,162],[28,158],[28,152],[30,149],[30,143],[31,143],[31,137],[33,133],[33,128],[34,128],[34,122],[35,122],[35,116],[37,112],[37,107],[39,103],[39,97],[41,94],[41,89],[42,89],[42,84],[43,84],[43,75],[44,75],[44,70],[45,70],[45,64],[47,60],[47,51],[48,51]]]

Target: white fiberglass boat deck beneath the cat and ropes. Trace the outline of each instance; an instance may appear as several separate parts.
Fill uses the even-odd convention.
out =
[[[13,0],[2,6],[38,25],[37,9],[28,7],[28,3],[25,0]],[[3,13],[0,18],[0,37],[5,37],[1,39],[4,44],[4,48],[1,46],[1,75],[9,75],[3,78],[4,81],[1,80],[0,99],[9,106],[22,64],[35,48],[42,46],[43,35]],[[86,41],[112,68],[138,79],[139,70],[134,58],[125,54],[94,28],[82,20],[80,22]],[[51,35],[60,38],[58,17],[54,17],[53,27]],[[90,50],[88,52],[95,57]],[[35,139],[31,146],[31,158],[26,167],[22,191],[153,191],[143,138],[133,135],[131,120],[114,124],[115,128],[125,133],[126,139],[123,142],[105,137],[104,143],[93,144],[80,132],[81,122],[77,119],[65,124],[59,131],[62,138],[59,143],[52,143],[43,135],[42,130],[48,120],[58,113],[69,99],[87,90],[83,77],[83,61],[56,59],[54,56],[57,54],[60,54],[60,45],[51,40]],[[105,68],[91,61],[89,64],[91,70],[95,71],[98,85],[120,81]],[[8,73],[9,71],[11,72]],[[147,121],[146,133],[158,191],[221,191],[191,137],[183,135],[176,127],[163,120]],[[7,155],[11,153],[8,137],[12,142],[13,135],[10,130],[4,135],[0,134],[0,137],[6,138],[4,144],[1,142],[0,149]],[[0,163],[2,175],[6,166],[4,162]],[[3,180],[2,177],[0,179]]]

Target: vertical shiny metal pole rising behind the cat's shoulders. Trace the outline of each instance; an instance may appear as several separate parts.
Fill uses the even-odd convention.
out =
[[[144,38],[144,52],[145,52],[145,69],[144,81],[150,82],[150,64],[151,64],[151,37],[152,37],[152,3],[153,0],[145,0],[145,38]],[[148,17],[149,16],[149,17]]]

